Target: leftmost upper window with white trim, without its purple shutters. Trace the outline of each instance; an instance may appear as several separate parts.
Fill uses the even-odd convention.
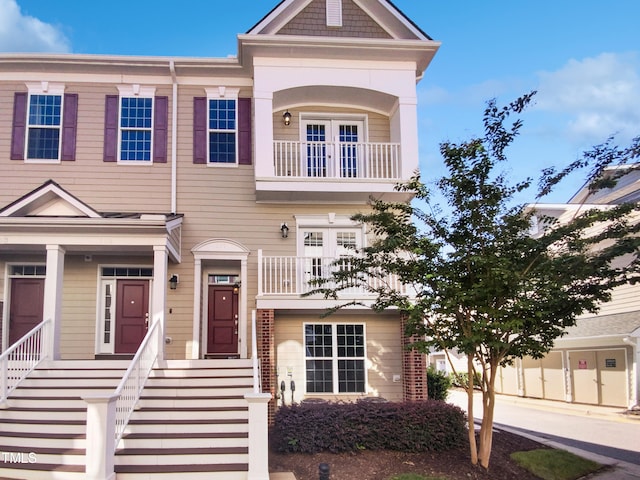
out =
[[[64,85],[28,85],[26,159],[60,160]]]

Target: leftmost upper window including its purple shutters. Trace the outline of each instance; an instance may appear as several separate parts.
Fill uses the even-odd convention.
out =
[[[27,84],[15,94],[11,159],[32,162],[75,160],[78,95],[49,82]]]

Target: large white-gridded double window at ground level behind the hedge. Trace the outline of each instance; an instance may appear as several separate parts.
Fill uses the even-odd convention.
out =
[[[305,324],[306,393],[365,393],[362,324]]]

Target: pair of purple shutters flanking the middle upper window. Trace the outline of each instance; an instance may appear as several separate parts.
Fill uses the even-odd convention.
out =
[[[107,95],[104,108],[104,158],[105,162],[118,161],[118,112],[120,97]],[[153,99],[153,163],[167,163],[169,130],[169,97]]]

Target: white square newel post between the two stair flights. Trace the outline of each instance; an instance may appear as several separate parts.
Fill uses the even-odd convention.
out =
[[[118,395],[83,397],[87,402],[85,473],[87,480],[115,480],[116,400]]]

